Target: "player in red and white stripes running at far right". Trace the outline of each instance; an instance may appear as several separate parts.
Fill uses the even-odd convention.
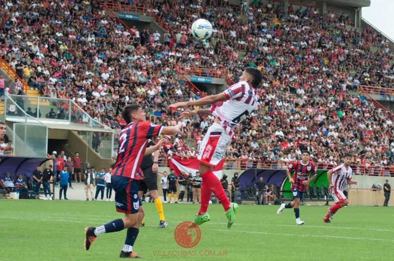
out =
[[[345,154],[344,163],[327,172],[327,179],[330,184],[330,193],[336,204],[333,207],[328,208],[328,214],[323,218],[323,222],[325,223],[331,223],[330,218],[333,218],[338,209],[349,204],[348,199],[343,193],[345,181],[347,180],[349,185],[358,183],[357,180],[352,180],[352,168],[350,167],[351,162],[352,155]]]

